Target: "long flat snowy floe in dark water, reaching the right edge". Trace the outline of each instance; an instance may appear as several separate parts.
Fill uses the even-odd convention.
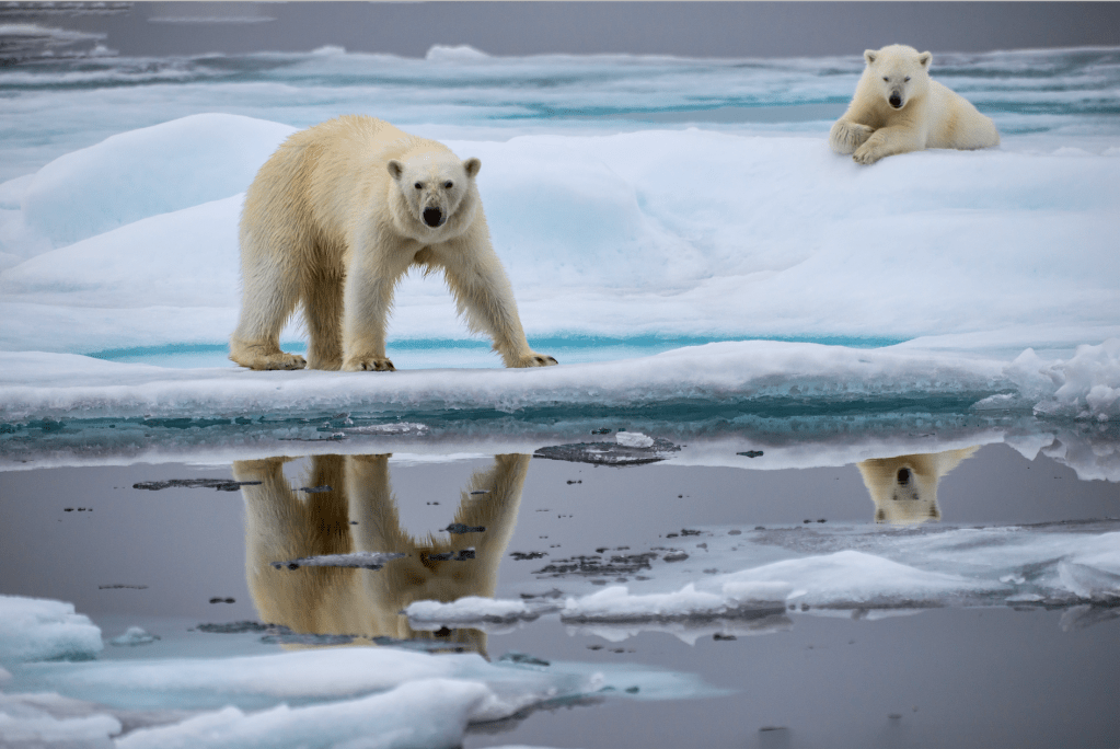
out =
[[[713,633],[781,631],[792,626],[784,616],[787,607],[810,615],[855,610],[874,617],[952,603],[1109,606],[1120,598],[1118,532],[1070,532],[1057,524],[917,534],[855,527],[833,530],[836,535],[786,533],[783,540],[765,533],[703,533],[704,565],[741,569],[700,580],[693,574],[675,590],[674,573],[662,561],[653,582],[609,586],[563,601],[470,597],[414,602],[405,614],[424,628],[559,614],[569,629],[612,642],[665,631],[691,644]],[[822,553],[837,543],[852,547]],[[786,546],[786,559],[741,567],[745,559],[772,556],[774,545]],[[688,572],[680,574],[689,579]]]

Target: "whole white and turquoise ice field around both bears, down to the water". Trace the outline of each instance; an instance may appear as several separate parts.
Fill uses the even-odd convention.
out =
[[[744,64],[327,48],[225,67],[101,56],[6,69],[0,420],[923,388],[1114,418],[1118,53],[935,59],[935,77],[996,120],[999,148],[869,168],[832,153],[858,52]],[[214,368],[241,303],[245,188],[288,134],[345,113],[482,159],[525,330],[573,366],[432,372],[500,362],[456,318],[441,279],[413,274],[398,289],[390,349],[424,374]],[[286,346],[301,345],[301,328],[297,315]],[[743,343],[648,356],[708,341]],[[619,358],[633,362],[587,365]],[[196,364],[140,366],[176,362]]]

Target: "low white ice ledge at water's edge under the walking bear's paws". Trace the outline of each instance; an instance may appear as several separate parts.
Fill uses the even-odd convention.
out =
[[[802,403],[944,396],[982,409],[1030,409],[1048,418],[1120,416],[1120,339],[1082,346],[1068,361],[1033,352],[1007,365],[900,348],[735,341],[637,359],[547,369],[329,372],[168,369],[74,355],[7,355],[0,422],[386,409],[603,406],[700,400]],[[371,387],[376,382],[376,388]]]

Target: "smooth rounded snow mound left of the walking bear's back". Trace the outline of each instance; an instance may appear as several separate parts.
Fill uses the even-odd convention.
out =
[[[112,135],[43,167],[24,194],[24,219],[60,246],[230,197],[292,132],[253,118],[194,114]]]

